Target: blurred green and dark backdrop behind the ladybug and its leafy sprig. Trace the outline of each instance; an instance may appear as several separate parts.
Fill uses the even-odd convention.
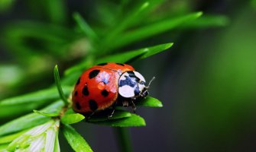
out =
[[[133,28],[204,14],[192,24],[100,51],[89,41],[93,33],[83,36],[73,20],[79,12],[104,36],[139,2],[0,0],[0,99],[50,86],[56,63],[64,71],[94,53],[108,54],[104,50],[173,42],[170,51],[133,64],[147,80],[156,77],[150,93],[164,103],[162,109],[138,109],[147,126],[130,129],[134,151],[256,151],[256,1],[159,1]],[[75,127],[93,150],[118,151],[112,128]],[[70,151],[65,142],[60,147]]]

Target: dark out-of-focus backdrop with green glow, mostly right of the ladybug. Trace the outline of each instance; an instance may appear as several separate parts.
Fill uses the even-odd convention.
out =
[[[157,78],[150,93],[161,100],[164,107],[138,108],[138,114],[144,117],[147,126],[130,128],[133,149],[256,151],[255,2],[182,2],[191,11],[224,14],[229,23],[225,27],[164,33],[128,47],[174,42],[169,51],[134,62],[134,67],[147,80],[153,76]],[[67,14],[81,11],[85,17],[92,14],[92,6],[96,5],[92,1],[67,1],[66,4]],[[0,27],[9,21],[35,18],[36,14],[30,14],[31,9],[26,7],[22,2],[16,2],[10,10],[2,11]],[[41,17],[44,20],[44,15]],[[72,19],[64,22],[70,23]],[[8,48],[0,47],[2,63],[14,60]],[[0,80],[0,91],[5,89]],[[93,150],[118,151],[112,128],[87,123],[74,126]],[[70,151],[66,141],[62,141],[61,147]]]

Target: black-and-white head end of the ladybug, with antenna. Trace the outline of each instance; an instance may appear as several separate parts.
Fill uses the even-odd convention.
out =
[[[118,93],[125,98],[147,97],[149,85],[146,86],[144,77],[138,71],[125,71],[118,81]]]

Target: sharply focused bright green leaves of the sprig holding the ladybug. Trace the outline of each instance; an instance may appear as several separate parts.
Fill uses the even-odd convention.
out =
[[[165,49],[170,48],[172,46],[172,43],[167,43],[159,46],[154,46],[150,48],[145,49],[139,49],[132,52],[127,53],[121,53],[118,55],[112,55],[110,57],[106,57],[104,59],[99,59],[96,61],[98,62],[108,62],[111,60],[112,62],[123,62],[120,61],[120,58],[123,56],[127,56],[124,60],[128,61],[130,59],[143,59],[146,58],[149,55],[153,55],[154,53],[163,51]],[[118,60],[118,61],[116,61]],[[76,69],[77,71],[78,69]],[[31,140],[37,140],[38,134],[35,134],[34,131],[37,131],[38,129],[41,130],[41,134],[39,135],[42,138],[39,138],[38,140],[45,140],[45,144],[41,145],[42,147],[54,147],[53,145],[47,144],[47,135],[43,137],[42,132],[48,131],[51,128],[55,128],[55,130],[51,129],[50,131],[54,132],[53,136],[50,136],[54,140],[57,140],[58,135],[58,129],[61,126],[63,126],[63,134],[65,135],[67,141],[73,147],[74,150],[86,150],[89,151],[90,147],[88,144],[86,144],[86,141],[70,126],[70,124],[80,122],[85,117],[79,113],[73,112],[73,110],[70,108],[70,101],[66,100],[66,98],[69,96],[70,92],[63,91],[62,87],[60,86],[60,76],[58,72],[57,66],[54,68],[54,78],[57,85],[57,90],[55,89],[55,92],[53,92],[53,88],[49,88],[47,90],[41,90],[39,93],[30,93],[28,95],[24,95],[23,97],[15,97],[8,100],[3,100],[1,102],[1,106],[18,106],[21,108],[24,104],[28,103],[35,103],[35,104],[41,104],[41,101],[46,102],[47,100],[53,99],[53,94],[55,94],[54,98],[57,100],[56,102],[53,102],[50,104],[50,106],[47,106],[47,108],[42,109],[41,111],[34,110],[34,114],[28,114],[27,116],[23,116],[19,119],[15,119],[11,122],[6,123],[5,125],[2,125],[0,127],[0,135],[8,135],[15,132],[24,132],[25,129],[32,128],[27,132],[24,132],[24,134],[18,134],[21,135],[18,137],[18,135],[11,135],[11,138],[9,140],[5,140],[5,138],[10,137],[3,136],[0,138],[2,139],[1,144],[9,143],[11,140],[15,139],[11,142],[11,144],[8,144],[7,150],[14,150],[15,148],[21,147],[21,148],[28,148],[30,145],[34,148],[33,143],[27,143]],[[68,88],[70,90],[70,87],[64,86],[63,88]],[[57,93],[59,93],[59,97],[57,96]],[[44,96],[41,96],[44,94]],[[58,100],[60,98],[60,100]],[[62,102],[63,101],[63,102]],[[152,107],[161,107],[162,103],[160,103],[159,100],[153,98],[153,97],[147,97],[146,100],[144,100],[141,103],[138,103],[137,106],[152,106]],[[11,113],[11,111],[9,111]],[[24,125],[21,125],[21,122],[27,122]],[[114,115],[108,119],[108,116],[92,116],[91,119],[88,120],[89,123],[94,123],[97,125],[110,125],[112,127],[131,127],[131,126],[144,126],[145,121],[141,116],[138,116],[136,114],[132,114],[128,111],[124,111],[122,109],[117,109],[114,113]],[[44,124],[44,125],[41,125]],[[37,126],[37,127],[34,127]],[[48,130],[47,130],[48,129]],[[15,133],[17,134],[17,133]],[[50,134],[50,133],[49,133]],[[50,138],[49,137],[49,138]],[[30,140],[29,140],[30,139]],[[51,139],[51,140],[53,140]],[[42,141],[43,142],[43,141]],[[58,141],[56,141],[58,142]],[[58,143],[56,144],[58,145]]]

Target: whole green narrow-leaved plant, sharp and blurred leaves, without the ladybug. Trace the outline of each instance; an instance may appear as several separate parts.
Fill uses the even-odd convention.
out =
[[[126,7],[131,5],[131,2],[122,1],[119,6],[119,13],[117,15],[112,13],[108,16],[108,18],[112,19],[112,23],[102,21],[101,26],[91,27],[79,13],[74,13],[75,30],[61,27],[58,24],[42,24],[31,21],[23,21],[8,26],[7,29],[9,30],[5,35],[7,40],[11,39],[12,42],[10,44],[10,42],[4,41],[13,52],[20,55],[22,59],[20,62],[29,67],[28,69],[31,68],[29,66],[31,62],[39,65],[41,62],[47,62],[47,58],[44,57],[37,59],[37,56],[44,56],[45,54],[40,51],[33,52],[34,49],[47,50],[47,53],[51,54],[50,62],[62,61],[66,58],[66,55],[73,55],[73,59],[78,59],[79,62],[64,71],[61,81],[57,66],[54,68],[57,87],[53,85],[44,90],[7,98],[0,102],[0,118],[15,118],[11,122],[0,126],[0,149],[45,148],[44,150],[60,151],[58,141],[60,130],[73,150],[92,151],[85,139],[70,125],[85,119],[83,115],[73,112],[70,108],[69,96],[76,79],[86,68],[102,62],[132,63],[167,50],[173,46],[173,43],[164,43],[144,49],[117,53],[118,49],[166,31],[179,28],[222,26],[226,23],[226,18],[222,16],[206,16],[196,20],[202,15],[202,12],[177,15],[177,17],[162,14],[157,17],[153,15],[152,18],[147,18],[147,15],[154,14],[154,11],[162,3],[162,1],[154,0],[149,2],[139,1],[128,11]],[[62,9],[59,8],[58,10]],[[141,21],[144,17],[146,19]],[[54,17],[50,18],[57,23],[62,22]],[[102,28],[102,26],[106,26],[106,28]],[[31,37],[33,40],[44,42],[44,45],[40,45],[37,42],[36,44],[41,46],[38,47],[37,45],[33,46],[24,43],[24,40]],[[82,54],[82,58],[78,54]],[[35,56],[36,58],[34,59]],[[52,68],[50,65],[47,66]],[[38,75],[44,71],[47,72],[46,69],[49,68],[47,66],[39,67],[39,71],[42,70],[40,73],[37,73],[38,69],[34,71],[34,67],[32,67],[31,73]],[[28,74],[24,74],[23,77],[28,77]],[[24,78],[21,78],[21,81]],[[146,100],[136,106],[161,107],[162,103],[154,97],[147,97]],[[44,108],[41,110],[35,110],[42,107]],[[34,113],[31,113],[33,110]],[[21,114],[26,115],[17,118]],[[122,151],[131,150],[129,149],[129,144],[131,143],[129,143],[128,134],[125,132],[124,127],[146,125],[141,116],[121,108],[115,111],[111,119],[108,119],[107,116],[95,115],[88,122],[83,122],[85,123],[84,125],[92,123],[115,127],[114,129],[121,139]]]

